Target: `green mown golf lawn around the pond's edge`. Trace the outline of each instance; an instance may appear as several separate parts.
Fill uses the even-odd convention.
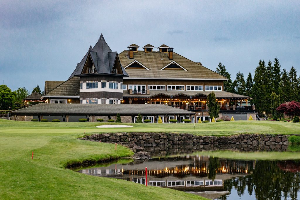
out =
[[[131,124],[133,128],[98,129],[105,123],[18,122],[0,119],[0,199],[192,199],[173,189],[145,187],[129,181],[80,174],[64,167],[132,155],[125,147],[78,140],[92,132],[181,132],[200,135],[300,133],[300,124],[218,122]],[[34,151],[34,159],[31,154]],[[201,198],[200,198],[201,199]]]

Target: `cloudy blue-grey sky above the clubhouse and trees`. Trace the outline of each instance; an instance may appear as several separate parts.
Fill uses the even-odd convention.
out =
[[[0,84],[67,80],[103,33],[113,51],[159,47],[231,78],[278,57],[300,74],[300,1],[0,1]]]

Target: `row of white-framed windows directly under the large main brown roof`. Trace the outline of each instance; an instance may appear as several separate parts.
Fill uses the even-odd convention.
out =
[[[146,85],[141,85],[146,88]],[[194,86],[194,85],[167,85],[167,90],[199,90],[203,91],[203,86]],[[128,89],[135,89],[137,88],[137,85],[128,85]],[[122,85],[122,89],[126,90],[127,85]],[[165,85],[148,85],[149,90],[166,90]],[[206,91],[222,91],[222,86],[205,86]]]

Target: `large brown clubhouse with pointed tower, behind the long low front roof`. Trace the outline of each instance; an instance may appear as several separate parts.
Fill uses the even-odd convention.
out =
[[[128,46],[121,53],[112,51],[103,35],[90,46],[66,81],[45,81],[48,104],[163,104],[193,112],[191,120],[209,120],[206,98],[214,91],[222,115],[247,120],[255,113],[250,97],[223,90],[226,77],[174,52],[165,44]],[[107,107],[109,108],[109,107]],[[188,115],[168,115],[170,119],[189,119]],[[253,118],[255,118],[253,116]],[[144,116],[153,123],[155,115]]]

